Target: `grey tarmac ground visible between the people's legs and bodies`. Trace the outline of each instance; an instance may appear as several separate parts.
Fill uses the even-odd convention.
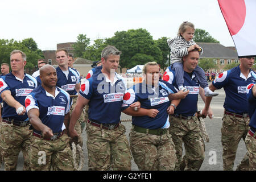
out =
[[[205,143],[205,159],[204,162],[201,166],[200,170],[203,171],[222,171],[222,145],[221,145],[221,126],[222,126],[222,116],[224,113],[223,109],[223,103],[225,100],[225,92],[223,89],[217,90],[216,92],[219,93],[217,97],[214,97],[211,103],[211,107],[213,110],[214,118],[209,119],[206,118],[204,119],[205,121],[205,126],[207,127],[207,132],[210,138],[209,143]],[[199,98],[199,110],[203,109],[203,104],[204,102]],[[123,114],[121,115],[122,119],[131,119],[129,115]],[[128,137],[131,129],[131,122],[122,122],[123,125],[126,126],[126,135]],[[84,150],[84,156],[85,156],[85,165],[82,168],[83,171],[88,170],[88,161],[87,161],[87,148],[86,148],[86,132],[82,133],[82,137],[84,139],[84,146],[82,147]],[[236,170],[236,167],[238,164],[241,162],[243,159],[243,156],[246,153],[246,147],[245,143],[243,140],[241,140],[238,149],[237,149],[237,155],[236,155],[236,160],[234,162],[234,170]],[[216,154],[216,155],[215,155]],[[214,156],[216,156],[216,163],[214,163]],[[22,165],[23,165],[23,157],[22,153],[19,154],[19,159],[18,159],[18,167],[17,170],[20,171],[22,170]],[[4,167],[2,164],[2,167],[0,168],[0,171],[3,171]],[[132,170],[137,171],[138,167],[132,160]]]

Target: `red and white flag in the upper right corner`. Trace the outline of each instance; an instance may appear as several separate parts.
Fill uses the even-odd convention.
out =
[[[256,0],[218,0],[238,57],[256,55]]]

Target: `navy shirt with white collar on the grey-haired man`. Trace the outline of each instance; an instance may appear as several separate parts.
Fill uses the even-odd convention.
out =
[[[126,82],[117,73],[112,85],[103,73],[98,71],[81,84],[79,94],[90,100],[89,119],[100,123],[118,123],[125,91]]]

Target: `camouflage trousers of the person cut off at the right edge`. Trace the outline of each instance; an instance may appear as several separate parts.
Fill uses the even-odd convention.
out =
[[[254,134],[255,136],[256,134]],[[245,144],[249,153],[249,170],[256,171],[256,139],[247,134],[245,138]]]

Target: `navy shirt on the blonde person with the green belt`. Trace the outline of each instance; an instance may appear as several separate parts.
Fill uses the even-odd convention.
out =
[[[176,93],[174,86],[168,84],[166,81],[159,80],[158,87],[152,88],[151,85],[146,85],[143,81],[128,89],[123,97],[123,110],[127,109],[129,105],[134,102],[141,102],[141,107],[144,109],[157,109],[159,113],[155,118],[148,117],[132,117],[133,125],[143,127],[146,129],[160,129],[168,128],[169,115],[167,108],[170,106],[169,94]]]

